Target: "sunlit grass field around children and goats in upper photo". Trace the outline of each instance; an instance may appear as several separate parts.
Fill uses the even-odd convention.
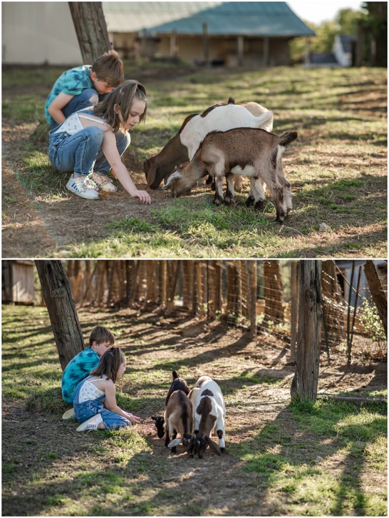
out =
[[[296,130],[284,154],[294,210],[284,226],[244,206],[215,207],[208,188],[172,199],[150,191],[143,207],[119,187],[87,202],[47,157],[46,96],[59,68],[3,71],[3,256],[380,257],[386,256],[386,70],[127,67],[149,96],[146,124],[124,162],[144,188],[143,161],[189,113],[233,96],[274,112],[273,132]],[[82,222],[82,224],[80,224]],[[321,223],[327,225],[319,232]]]

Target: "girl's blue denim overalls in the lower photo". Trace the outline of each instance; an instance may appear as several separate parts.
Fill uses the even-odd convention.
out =
[[[124,426],[131,426],[131,423],[128,419],[123,418],[121,415],[116,414],[115,412],[111,412],[104,407],[103,401],[105,399],[105,394],[96,399],[88,399],[82,403],[78,402],[78,395],[80,393],[81,386],[89,378],[91,378],[91,376],[88,376],[88,378],[81,381],[73,396],[73,408],[77,421],[79,423],[85,423],[85,421],[87,421],[93,415],[101,414],[103,423],[108,430],[117,430],[119,428],[123,428]]]

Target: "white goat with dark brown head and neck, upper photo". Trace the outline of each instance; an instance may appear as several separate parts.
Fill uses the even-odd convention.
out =
[[[144,163],[147,186],[157,189],[161,181],[179,164],[188,162],[198,150],[201,141],[212,131],[225,131],[234,127],[260,127],[271,131],[273,113],[258,103],[234,105],[230,97],[227,105],[217,104],[203,113],[189,115],[164,148],[150,156]]]

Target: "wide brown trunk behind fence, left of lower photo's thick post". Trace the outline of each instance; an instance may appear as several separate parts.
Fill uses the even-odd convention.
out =
[[[265,261],[263,276],[265,277],[265,318],[263,323],[266,324],[268,320],[271,320],[275,324],[281,324],[284,322],[284,298],[279,262]]]

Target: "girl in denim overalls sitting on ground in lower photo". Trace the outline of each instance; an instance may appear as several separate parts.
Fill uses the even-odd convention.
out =
[[[118,347],[112,347],[90,376],[78,385],[73,396],[76,419],[81,423],[77,431],[116,430],[140,420],[116,403],[115,382],[125,370],[126,356]]]

